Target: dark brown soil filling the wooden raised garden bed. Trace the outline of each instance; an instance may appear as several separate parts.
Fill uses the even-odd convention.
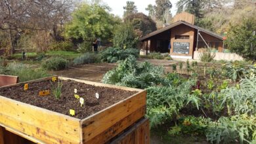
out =
[[[137,93],[68,80],[62,81],[62,95],[59,99],[56,99],[52,93],[52,89],[57,84],[58,82],[52,81],[29,83],[28,90],[26,91],[24,90],[24,85],[0,88],[0,96],[49,109],[50,111],[64,115],[70,115],[70,109],[74,109],[74,117],[83,119]],[[85,104],[82,107],[79,99],[74,97],[74,88],[77,89],[77,95],[85,100]],[[39,92],[42,90],[50,90],[50,95],[39,96]],[[96,99],[96,93],[99,94],[99,99]]]

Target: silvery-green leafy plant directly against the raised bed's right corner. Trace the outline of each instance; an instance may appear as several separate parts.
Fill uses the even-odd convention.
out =
[[[190,104],[192,107],[200,106],[200,98],[190,95],[194,80],[188,80],[179,86],[152,86],[147,88],[147,115],[150,126],[158,126],[166,120],[175,120],[182,108]],[[192,109],[192,108],[191,108]]]

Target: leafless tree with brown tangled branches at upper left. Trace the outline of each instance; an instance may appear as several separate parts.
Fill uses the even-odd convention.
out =
[[[56,41],[61,39],[62,29],[75,9],[76,0],[1,0],[0,30],[8,30],[11,43],[20,33],[43,31]],[[38,33],[38,32],[36,32]],[[12,45],[10,45],[12,49]]]

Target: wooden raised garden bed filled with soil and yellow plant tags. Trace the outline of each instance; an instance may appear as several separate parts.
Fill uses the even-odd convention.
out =
[[[56,99],[51,88],[59,80],[62,96]],[[145,90],[65,77],[58,81],[49,77],[1,87],[0,126],[35,143],[106,143],[146,113]],[[74,88],[84,105],[74,97]],[[42,90],[50,94],[39,96]]]

